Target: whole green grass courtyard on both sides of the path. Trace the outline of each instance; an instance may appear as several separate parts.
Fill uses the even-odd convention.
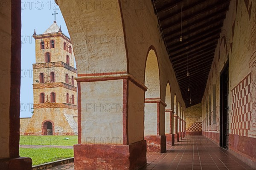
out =
[[[70,139],[65,139],[70,138]],[[73,146],[77,144],[77,136],[20,136],[20,146],[24,145],[49,145],[49,146]],[[74,156],[73,149],[55,147],[20,148],[20,156],[32,158],[32,165],[57,161]]]

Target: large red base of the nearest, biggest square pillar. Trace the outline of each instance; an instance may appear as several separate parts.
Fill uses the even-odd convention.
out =
[[[75,170],[137,170],[147,163],[146,141],[127,145],[76,144]]]

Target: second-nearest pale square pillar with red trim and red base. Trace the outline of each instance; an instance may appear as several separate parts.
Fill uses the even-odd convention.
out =
[[[145,140],[148,153],[166,152],[165,107],[160,98],[145,98]]]

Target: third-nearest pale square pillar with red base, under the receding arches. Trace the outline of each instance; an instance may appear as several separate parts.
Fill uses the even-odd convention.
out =
[[[166,144],[172,145],[174,146],[174,122],[173,122],[173,115],[174,115],[174,111],[172,109],[166,109],[166,117],[165,117],[165,135],[166,135]],[[169,126],[167,126],[169,125]]]

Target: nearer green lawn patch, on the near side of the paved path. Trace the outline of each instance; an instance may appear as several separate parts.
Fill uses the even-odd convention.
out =
[[[57,161],[64,158],[74,156],[73,149],[61,148],[20,148],[21,157],[32,158],[32,165],[43,164],[47,162]]]

